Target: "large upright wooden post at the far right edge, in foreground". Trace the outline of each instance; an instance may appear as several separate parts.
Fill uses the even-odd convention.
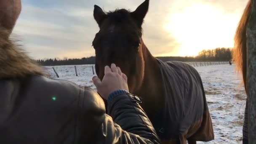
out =
[[[249,144],[256,144],[256,0],[246,29]]]

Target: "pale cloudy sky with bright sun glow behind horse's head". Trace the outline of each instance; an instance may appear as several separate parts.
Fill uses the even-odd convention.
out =
[[[134,11],[144,0],[22,0],[13,37],[34,59],[94,56],[93,5]],[[150,0],[143,40],[153,56],[232,48],[247,0]]]

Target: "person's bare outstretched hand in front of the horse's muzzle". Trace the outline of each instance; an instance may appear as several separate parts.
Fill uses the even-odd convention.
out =
[[[97,76],[93,77],[93,83],[101,97],[107,99],[110,93],[120,89],[129,91],[127,76],[115,64],[111,64],[111,68],[106,66],[104,74],[102,81]]]

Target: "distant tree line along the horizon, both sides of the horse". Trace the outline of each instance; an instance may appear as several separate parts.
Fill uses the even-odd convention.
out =
[[[157,58],[162,61],[230,61],[232,59],[232,48],[203,50],[199,52],[198,56],[165,56]],[[42,66],[95,64],[95,56],[81,59],[39,59],[36,62]]]

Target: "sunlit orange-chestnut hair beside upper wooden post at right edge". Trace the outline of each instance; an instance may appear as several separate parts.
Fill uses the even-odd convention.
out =
[[[238,72],[243,74],[243,82],[245,85],[245,91],[247,90],[246,85],[246,72],[247,72],[247,49],[246,49],[246,26],[248,19],[251,14],[252,0],[247,3],[243,15],[238,23],[237,30],[235,33],[235,45],[233,51],[233,60],[236,63]]]

